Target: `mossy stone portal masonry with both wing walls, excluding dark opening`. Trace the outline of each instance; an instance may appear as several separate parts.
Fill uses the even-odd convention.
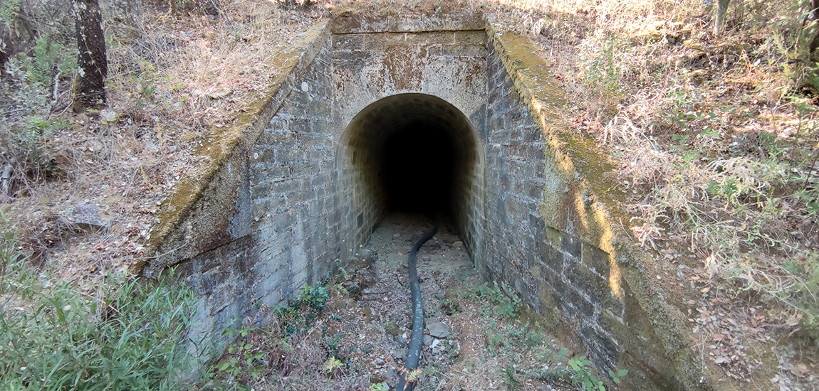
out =
[[[333,34],[310,35],[207,182],[174,193],[184,207],[161,227],[143,274],[176,265],[203,298],[191,339],[223,343],[225,327],[346,265],[384,213],[348,143],[365,127],[348,124],[384,98],[426,94],[471,123],[457,133],[474,159],[459,179],[456,214],[476,266],[507,282],[552,332],[586,347],[595,365],[629,369],[628,388],[701,388],[676,326],[656,326],[672,322],[673,308],[642,293],[642,276],[627,266],[639,251],[617,240],[599,187],[575,165],[586,158],[568,157],[569,139],[543,115],[559,92],[545,73],[527,76],[545,67],[531,59],[535,49],[491,24],[487,40],[472,21],[425,31],[416,20],[402,31],[392,20],[379,33],[366,25],[378,18],[342,19]]]

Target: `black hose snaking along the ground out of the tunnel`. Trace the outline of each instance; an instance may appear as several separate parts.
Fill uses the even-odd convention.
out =
[[[418,250],[421,246],[430,240],[435,232],[438,231],[438,226],[432,227],[427,235],[424,235],[420,240],[415,242],[415,245],[409,251],[409,258],[407,259],[407,267],[409,268],[409,290],[412,292],[412,337],[409,339],[409,352],[407,359],[404,362],[404,373],[401,374],[398,380],[398,390],[404,391],[412,389],[415,386],[415,375],[413,371],[418,368],[419,356],[421,355],[421,344],[423,342],[423,303],[421,302],[421,287],[418,285],[418,270],[415,268],[415,258],[418,257]],[[412,379],[409,379],[412,377]]]

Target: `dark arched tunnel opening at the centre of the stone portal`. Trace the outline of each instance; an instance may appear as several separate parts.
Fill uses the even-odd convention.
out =
[[[360,225],[409,212],[464,231],[479,148],[473,125],[455,106],[420,93],[382,98],[352,119],[345,137]]]

